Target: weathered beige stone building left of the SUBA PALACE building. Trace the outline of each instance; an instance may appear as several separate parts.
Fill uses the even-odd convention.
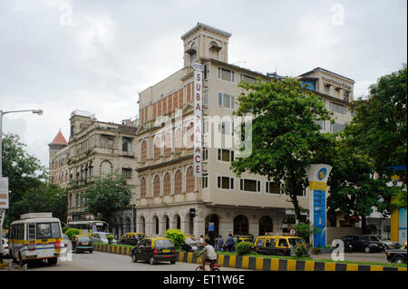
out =
[[[93,218],[85,212],[83,192],[92,184],[94,176],[122,173],[131,186],[131,204],[134,204],[137,187],[134,170],[136,122],[103,122],[96,120],[88,111],[73,111],[70,122],[69,142],[60,131],[49,145],[50,181],[69,192],[68,222]],[[116,215],[119,217],[112,218],[112,230],[118,234],[131,231],[134,227],[132,211],[121,211]]]

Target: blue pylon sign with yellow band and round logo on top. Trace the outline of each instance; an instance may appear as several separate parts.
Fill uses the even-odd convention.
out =
[[[332,167],[325,164],[310,165],[306,169],[309,180],[310,222],[316,226],[317,232],[312,236],[313,247],[326,246],[326,190],[327,179]]]

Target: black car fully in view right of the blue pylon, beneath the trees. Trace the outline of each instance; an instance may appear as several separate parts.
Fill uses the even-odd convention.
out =
[[[367,235],[349,235],[341,238],[348,252],[381,252],[384,244]]]

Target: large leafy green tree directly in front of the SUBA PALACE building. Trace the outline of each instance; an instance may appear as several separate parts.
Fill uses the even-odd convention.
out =
[[[252,153],[232,162],[238,176],[245,171],[283,180],[284,191],[301,217],[297,196],[308,186],[306,166],[318,161],[333,138],[321,133],[319,120],[331,120],[314,92],[294,78],[283,81],[241,82],[238,116],[252,114]]]

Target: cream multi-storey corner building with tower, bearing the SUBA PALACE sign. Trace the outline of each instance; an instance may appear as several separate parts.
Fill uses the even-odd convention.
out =
[[[281,232],[293,223],[292,204],[282,195],[279,181],[230,170],[238,149],[228,145],[233,137],[232,112],[238,107],[241,80],[257,77],[268,81],[277,74],[259,72],[228,63],[231,34],[206,24],[197,24],[181,36],[184,65],[161,82],[140,93],[138,151],[137,230],[161,235],[168,228],[185,233],[259,235]],[[191,117],[193,115],[193,70],[191,63],[204,65],[203,176],[193,176]],[[336,124],[322,123],[322,130],[342,130],[351,120],[350,101],[354,82],[334,72],[316,68],[299,76],[335,111]],[[325,89],[329,87],[329,89]],[[209,121],[210,120],[213,121]],[[209,134],[211,136],[206,136]],[[212,136],[220,136],[214,143]],[[216,141],[217,142],[217,141]],[[306,192],[299,204],[308,207]],[[190,217],[195,209],[196,217]],[[287,215],[287,213],[289,213]]]

